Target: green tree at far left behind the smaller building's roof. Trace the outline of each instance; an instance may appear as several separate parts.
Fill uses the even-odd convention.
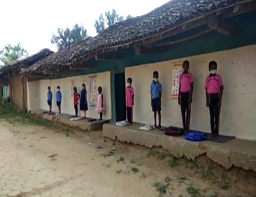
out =
[[[0,61],[4,63],[4,66],[13,64],[15,61],[26,58],[27,56],[27,50],[22,48],[20,46],[20,43],[17,43],[17,45],[15,45],[14,47],[10,44],[7,44],[0,51]]]

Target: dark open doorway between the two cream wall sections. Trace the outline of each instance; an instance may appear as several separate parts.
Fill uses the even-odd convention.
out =
[[[116,122],[126,120],[126,102],[125,102],[125,74],[115,74],[115,109]]]

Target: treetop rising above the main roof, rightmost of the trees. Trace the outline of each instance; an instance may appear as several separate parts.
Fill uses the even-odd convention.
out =
[[[132,18],[131,15],[128,15],[126,19]],[[116,22],[120,22],[124,20],[124,16],[119,16],[119,14],[116,13],[115,9],[112,9],[112,12],[106,11],[105,12],[105,18],[103,18],[102,14],[100,14],[99,20],[95,20],[95,29],[96,32],[99,34],[104,31],[105,29],[105,22],[108,26],[113,26]]]

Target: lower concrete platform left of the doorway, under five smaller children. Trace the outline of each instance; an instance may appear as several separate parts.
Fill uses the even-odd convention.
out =
[[[43,114],[45,111],[46,110],[38,109],[38,110],[31,111],[31,114],[37,116],[38,118],[44,118],[52,122],[66,124],[66,125],[69,125],[70,127],[78,127],[81,130],[90,131],[90,132],[95,130],[101,130],[103,124],[110,122],[110,120],[96,120],[95,122],[88,122],[87,119],[70,120],[70,114],[56,113],[58,115],[48,115],[48,114]]]

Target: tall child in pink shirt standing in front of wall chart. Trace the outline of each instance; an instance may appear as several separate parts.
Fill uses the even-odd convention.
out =
[[[189,62],[186,60],[182,65],[183,73],[179,75],[179,96],[178,104],[182,114],[184,132],[189,130],[191,102],[193,94],[193,77],[189,70]]]

